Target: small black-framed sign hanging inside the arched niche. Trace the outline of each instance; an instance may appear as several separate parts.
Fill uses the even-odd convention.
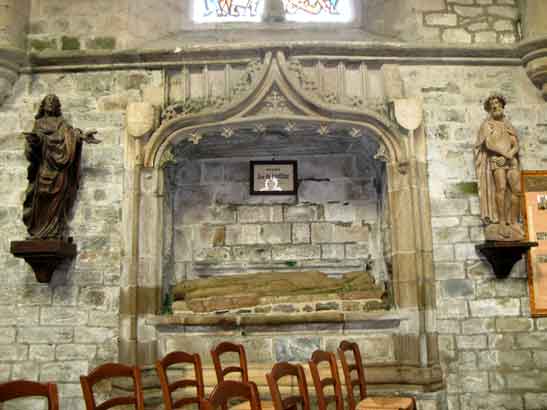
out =
[[[296,161],[251,161],[251,195],[295,195]]]

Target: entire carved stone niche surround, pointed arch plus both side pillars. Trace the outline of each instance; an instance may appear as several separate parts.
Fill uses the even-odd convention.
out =
[[[134,335],[133,329],[139,321],[147,314],[157,314],[162,304],[163,230],[170,224],[167,220],[170,216],[163,208],[163,167],[170,159],[170,147],[185,140],[199,144],[203,135],[218,137],[223,128],[245,126],[249,129],[249,124],[268,125],[280,121],[311,122],[355,130],[348,135],[374,138],[379,146],[375,158],[386,163],[394,311],[407,323],[404,334],[394,336],[395,357],[401,366],[420,368],[427,373],[436,366],[438,355],[436,336],[431,333],[435,280],[426,155],[417,154],[421,141],[425,140],[423,129],[415,121],[411,124],[418,128],[403,134],[403,129],[383,114],[388,112],[387,104],[383,110],[375,111],[363,104],[331,103],[318,97],[304,86],[298,64],[298,60],[286,60],[282,52],[266,53],[253,68],[249,81],[246,80],[244,92],[230,94],[230,98],[219,104],[200,101],[197,107],[164,116],[163,123],[142,149],[141,142],[144,143],[151,132],[154,110],[149,107],[149,118],[144,121],[147,116],[141,111],[130,115],[128,109],[128,118],[133,118],[139,126],[130,127],[128,120],[128,135],[136,141],[136,148],[129,153],[134,154],[131,160],[134,163],[128,165],[134,167],[127,167],[132,173],[128,173],[126,180],[130,195],[127,195],[124,215],[130,232],[124,252],[128,260],[124,265],[128,286],[123,299],[133,308],[122,317],[122,333]],[[410,99],[405,102],[415,108],[414,111],[421,111],[420,104],[412,105]],[[393,107],[395,118],[400,124],[409,124],[400,119],[413,111],[401,111],[396,105]],[[421,119],[421,115],[417,117]],[[332,137],[336,138],[334,134]],[[128,361],[140,364],[153,363],[157,342],[146,332],[131,339],[122,338],[120,358],[127,357]],[[438,373],[431,374],[424,376],[425,384],[438,381]]]

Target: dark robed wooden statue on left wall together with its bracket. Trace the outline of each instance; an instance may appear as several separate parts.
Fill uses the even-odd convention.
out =
[[[56,95],[44,97],[35,119],[33,130],[23,134],[29,161],[23,222],[29,237],[11,242],[10,250],[32,266],[38,282],[49,282],[59,263],[76,255],[67,219],[80,181],[82,145],[100,141],[96,131],[73,128],[63,118]]]

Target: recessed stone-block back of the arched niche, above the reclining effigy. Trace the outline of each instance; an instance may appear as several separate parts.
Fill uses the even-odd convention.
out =
[[[360,132],[343,122],[262,116],[177,143],[164,167],[172,217],[164,292],[173,279],[253,272],[367,270],[382,286],[391,282],[385,166],[374,158],[377,141]],[[249,161],[272,159],[297,161],[296,195],[250,195]]]

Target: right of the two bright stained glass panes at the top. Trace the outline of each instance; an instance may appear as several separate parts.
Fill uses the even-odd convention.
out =
[[[283,0],[285,19],[301,22],[348,22],[351,0]]]

